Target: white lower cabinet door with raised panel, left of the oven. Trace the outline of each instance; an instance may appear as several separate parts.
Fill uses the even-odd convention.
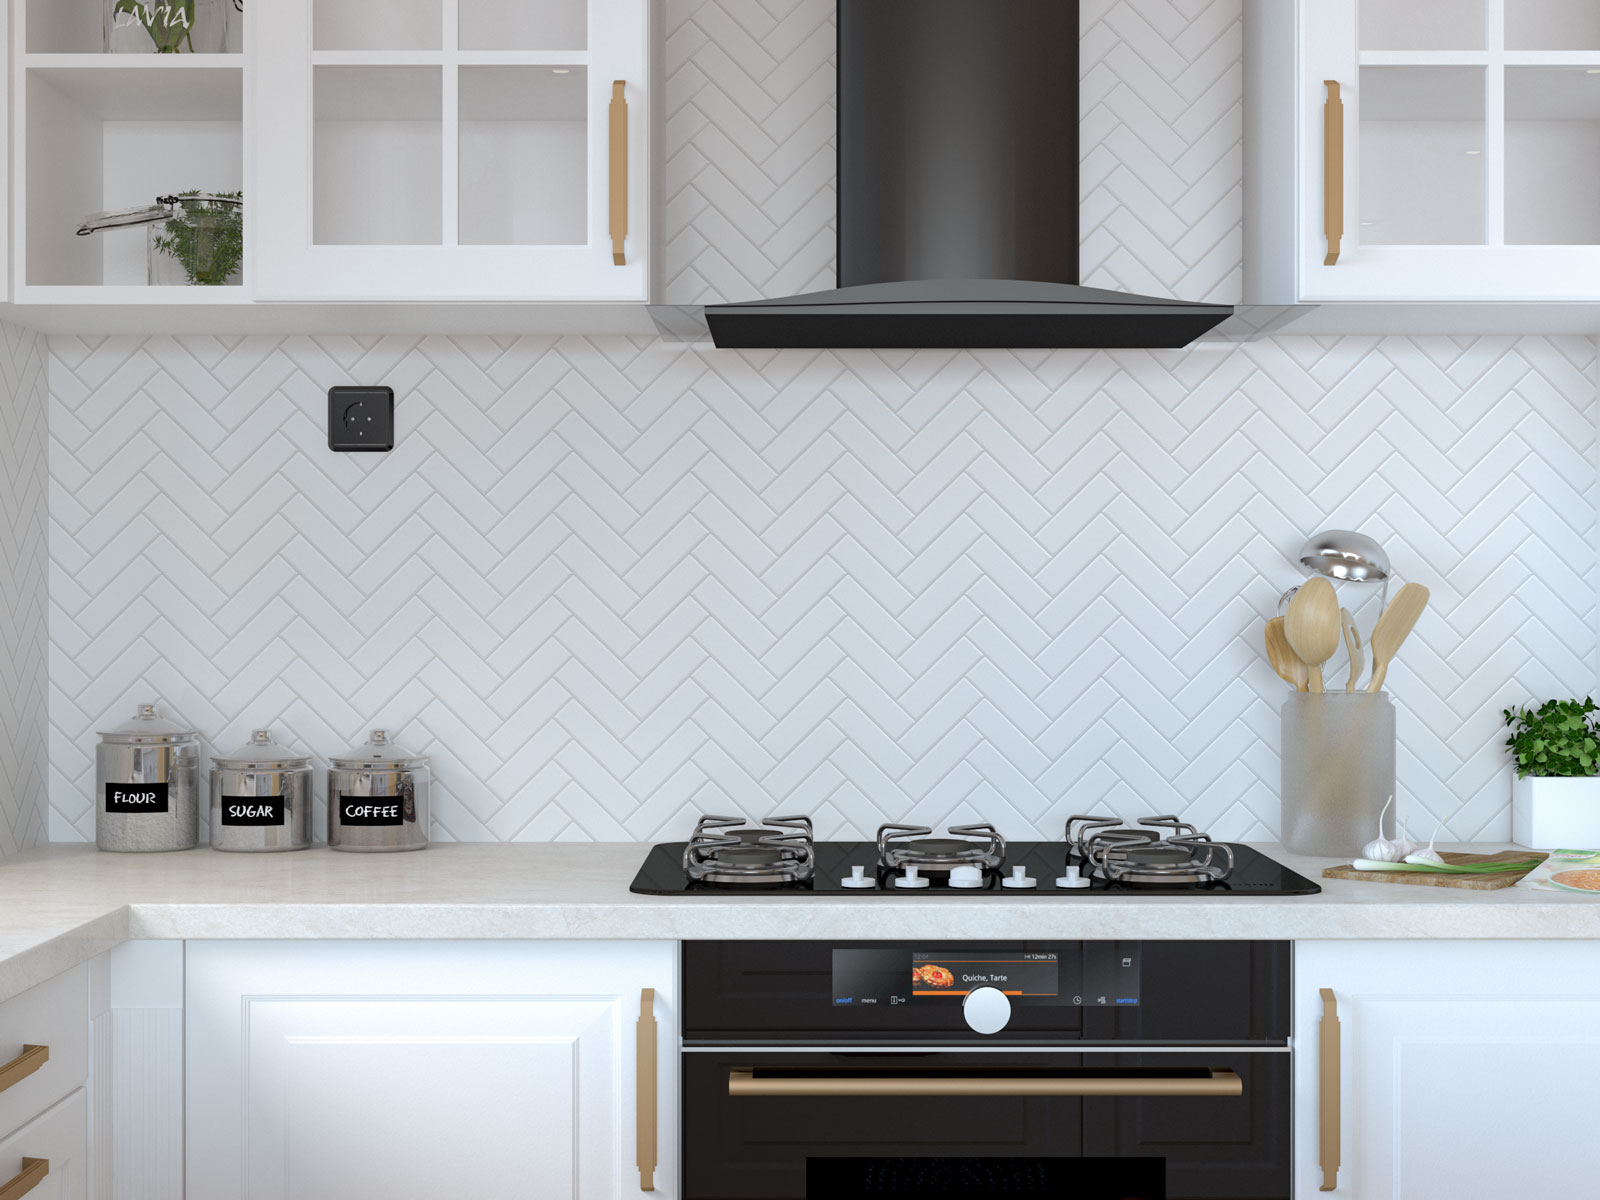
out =
[[[190,1197],[677,1195],[672,942],[186,954]]]

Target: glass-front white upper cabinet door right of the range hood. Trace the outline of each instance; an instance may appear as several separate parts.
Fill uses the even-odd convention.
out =
[[[1246,299],[1600,298],[1597,11],[1248,0]]]

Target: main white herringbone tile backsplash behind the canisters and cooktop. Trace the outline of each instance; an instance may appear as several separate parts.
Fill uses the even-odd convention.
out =
[[[1589,339],[50,349],[54,838],[150,696],[208,750],[387,726],[442,838],[1096,806],[1267,837],[1261,624],[1326,525],[1434,589],[1389,675],[1413,829],[1506,835],[1499,709],[1594,688]],[[328,451],[336,382],[395,387],[394,453]]]

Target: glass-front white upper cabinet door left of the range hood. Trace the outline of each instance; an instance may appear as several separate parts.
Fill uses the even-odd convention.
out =
[[[253,37],[258,299],[648,299],[648,0],[280,0]]]

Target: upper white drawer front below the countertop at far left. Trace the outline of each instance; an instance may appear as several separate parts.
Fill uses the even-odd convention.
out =
[[[0,1091],[0,1136],[34,1120],[88,1078],[88,966],[75,966],[0,1005],[0,1075],[24,1046],[48,1046],[50,1059]]]

